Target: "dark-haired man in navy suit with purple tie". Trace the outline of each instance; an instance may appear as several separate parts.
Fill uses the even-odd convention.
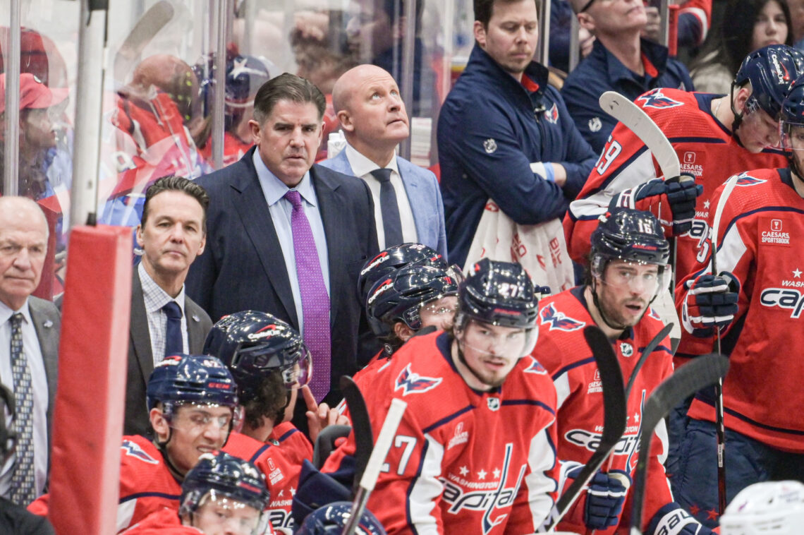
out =
[[[198,180],[210,194],[209,235],[187,293],[215,319],[253,309],[290,323],[312,352],[316,401],[334,387],[331,403],[338,377],[357,369],[367,325],[357,279],[378,249],[367,185],[313,165],[325,105],[318,88],[287,73],[256,93],[256,147]]]

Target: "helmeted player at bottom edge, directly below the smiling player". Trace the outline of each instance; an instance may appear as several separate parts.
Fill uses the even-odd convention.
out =
[[[256,466],[223,451],[201,455],[182,483],[181,506],[163,508],[126,535],[264,535],[269,492]]]

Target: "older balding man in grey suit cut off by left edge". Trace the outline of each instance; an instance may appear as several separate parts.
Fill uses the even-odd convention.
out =
[[[31,297],[42,278],[47,221],[24,197],[0,197],[0,381],[14,392],[18,434],[0,471],[0,496],[27,505],[47,482],[58,377],[58,309]]]

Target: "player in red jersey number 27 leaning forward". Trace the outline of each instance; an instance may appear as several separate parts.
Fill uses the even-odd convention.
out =
[[[533,533],[556,499],[556,390],[529,355],[536,298],[522,266],[484,258],[450,331],[414,336],[366,397],[379,429],[408,403],[367,507],[388,533]],[[346,469],[355,437],[327,459]]]

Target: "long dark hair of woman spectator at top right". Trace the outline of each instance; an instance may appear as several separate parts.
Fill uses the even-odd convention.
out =
[[[787,39],[785,44],[793,45],[793,22],[790,19],[790,7],[785,0],[728,0],[724,13],[716,27],[709,32],[706,41],[695,60],[690,65],[693,79],[695,71],[711,65],[722,64],[728,68],[731,76],[740,70],[740,64],[753,52],[753,28],[759,12],[768,2],[776,2],[785,14],[787,23]]]

